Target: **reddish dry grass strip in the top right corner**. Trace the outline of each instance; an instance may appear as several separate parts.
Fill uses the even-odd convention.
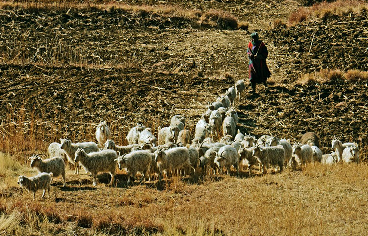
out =
[[[295,24],[309,18],[325,18],[331,15],[355,14],[368,9],[367,1],[363,0],[337,0],[333,2],[315,3],[310,7],[300,7],[289,17],[289,23]]]

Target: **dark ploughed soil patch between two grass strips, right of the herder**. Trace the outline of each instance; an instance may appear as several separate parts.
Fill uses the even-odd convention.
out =
[[[270,38],[280,49],[278,55],[291,64],[289,73],[323,68],[368,70],[367,11],[281,26],[271,31]]]

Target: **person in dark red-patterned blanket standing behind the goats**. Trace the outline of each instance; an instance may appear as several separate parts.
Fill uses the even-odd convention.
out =
[[[263,83],[267,87],[267,78],[271,76],[266,58],[268,50],[266,45],[259,39],[258,33],[250,35],[252,41],[248,44],[247,54],[249,57],[249,81],[252,84],[252,92],[256,92],[256,83]]]

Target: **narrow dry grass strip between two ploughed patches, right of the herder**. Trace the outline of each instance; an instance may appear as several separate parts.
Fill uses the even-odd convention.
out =
[[[341,70],[322,69],[318,72],[315,71],[314,73],[300,75],[296,83],[301,85],[324,84],[337,82],[339,80],[367,81],[368,72],[359,70],[348,70],[347,72],[343,72]]]

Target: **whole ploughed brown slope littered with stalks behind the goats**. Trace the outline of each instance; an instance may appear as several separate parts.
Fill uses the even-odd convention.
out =
[[[238,19],[251,22],[251,30],[264,31],[270,19],[285,17],[299,5],[281,2],[257,3],[267,12],[259,25],[254,23],[256,11],[246,8],[249,1],[210,1],[206,7],[202,1],[184,1],[182,6],[226,6]],[[322,147],[330,146],[333,135],[366,145],[366,81],[293,83],[299,73],[320,68],[367,70],[367,40],[359,39],[367,37],[364,19],[361,13],[272,29],[265,39],[273,74],[270,88],[266,92],[260,86],[258,95],[246,92],[237,102],[238,128],[257,136],[281,133],[292,141],[313,131]],[[0,11],[0,22],[4,139],[12,127],[26,134],[34,130],[46,144],[61,137],[94,140],[95,126],[106,120],[114,139],[123,144],[136,123],[156,133],[175,114],[187,117],[187,128],[193,130],[207,102],[248,77],[249,32],[243,30],[98,9],[9,9]]]

